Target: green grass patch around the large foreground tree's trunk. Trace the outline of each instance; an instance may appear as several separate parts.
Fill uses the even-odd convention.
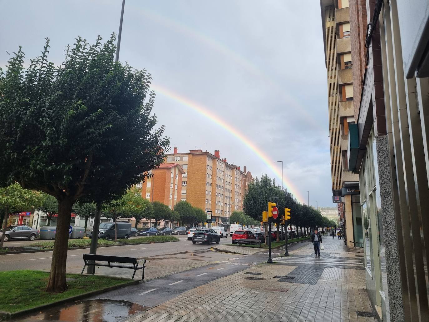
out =
[[[45,287],[49,273],[39,270],[9,270],[0,272],[0,311],[16,312],[42,304],[59,301],[70,296],[124,283],[124,280],[105,276],[66,274],[74,278],[67,282],[63,293],[47,293]]]

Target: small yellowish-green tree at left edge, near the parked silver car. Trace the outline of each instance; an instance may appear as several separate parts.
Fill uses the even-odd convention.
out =
[[[0,210],[3,216],[3,234],[0,238],[0,249],[3,248],[3,241],[6,232],[6,223],[9,213],[18,213],[23,210],[36,209],[42,205],[43,196],[39,191],[21,188],[18,183],[14,183],[5,188],[0,188]]]

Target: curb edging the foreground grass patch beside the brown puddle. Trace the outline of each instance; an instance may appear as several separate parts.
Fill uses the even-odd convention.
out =
[[[111,278],[113,278],[113,277],[111,277]],[[97,295],[97,294],[101,294],[101,293],[113,291],[115,289],[122,289],[122,288],[124,288],[126,286],[136,285],[136,284],[139,284],[139,283],[140,283],[140,281],[138,279],[133,279],[133,280],[121,283],[121,284],[117,284],[117,285],[105,287],[104,289],[97,289],[95,291],[86,292],[86,293],[79,294],[79,295],[76,295],[76,296],[70,296],[69,298],[64,298],[62,300],[55,301],[55,302],[52,302],[52,303],[49,303],[49,304],[42,304],[42,305],[39,305],[39,306],[36,306],[36,307],[32,307],[32,308],[26,309],[26,310],[20,310],[20,311],[16,311],[16,312],[4,312],[4,311],[0,311],[0,318],[6,319],[6,320],[10,320],[10,319],[13,319],[13,318],[15,318],[17,316],[20,316],[20,315],[24,315],[24,314],[27,314],[27,313],[32,313],[32,312],[43,310],[43,309],[48,309],[50,307],[55,307],[57,305],[65,304],[65,303],[70,302],[70,301],[76,301],[76,300],[80,300],[82,298],[88,298],[88,297],[93,296],[93,295]]]

